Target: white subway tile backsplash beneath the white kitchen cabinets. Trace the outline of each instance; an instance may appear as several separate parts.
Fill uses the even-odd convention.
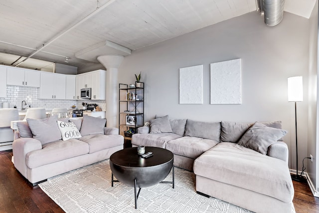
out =
[[[14,105],[18,110],[21,110],[21,102],[26,101],[27,106],[31,108],[43,107],[46,110],[52,110],[53,108],[71,108],[72,105],[76,105],[79,109],[82,109],[82,102],[89,104],[96,103],[99,107],[106,111],[106,101],[97,100],[50,100],[50,99],[38,99],[38,88],[34,87],[20,87],[20,86],[6,86],[6,98],[0,98],[0,108],[2,108],[3,102],[9,102],[10,108]]]

